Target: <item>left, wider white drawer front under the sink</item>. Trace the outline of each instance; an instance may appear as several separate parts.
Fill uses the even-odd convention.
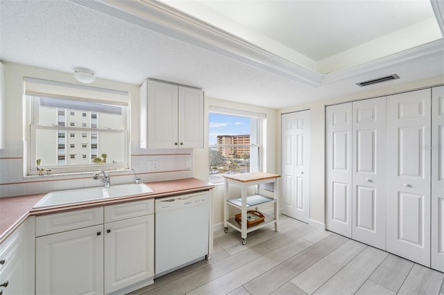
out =
[[[35,236],[51,235],[103,224],[103,207],[69,211],[35,218]]]

